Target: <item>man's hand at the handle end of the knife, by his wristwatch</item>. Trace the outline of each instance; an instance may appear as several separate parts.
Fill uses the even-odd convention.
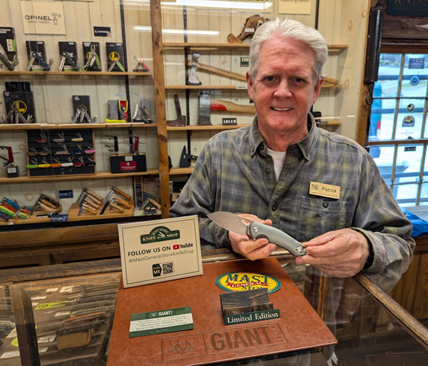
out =
[[[351,229],[330,231],[305,243],[307,255],[297,264],[309,264],[333,277],[352,277],[362,270],[369,245],[361,233]]]

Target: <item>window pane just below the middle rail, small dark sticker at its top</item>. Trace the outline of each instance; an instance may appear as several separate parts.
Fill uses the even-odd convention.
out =
[[[423,145],[398,146],[394,183],[419,182]]]

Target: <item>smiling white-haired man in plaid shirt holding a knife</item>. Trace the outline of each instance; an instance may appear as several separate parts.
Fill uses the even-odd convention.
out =
[[[259,27],[250,48],[252,126],[211,138],[171,216],[199,216],[203,243],[231,247],[250,260],[276,246],[228,232],[207,218],[228,211],[304,242],[309,264],[334,277],[364,270],[392,288],[412,260],[412,225],[370,155],[355,141],[323,131],[310,108],[320,95],[327,44],[291,19]],[[328,193],[326,193],[328,192]]]

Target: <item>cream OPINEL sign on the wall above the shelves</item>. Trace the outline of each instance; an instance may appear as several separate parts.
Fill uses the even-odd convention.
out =
[[[62,3],[21,1],[25,34],[66,34]]]

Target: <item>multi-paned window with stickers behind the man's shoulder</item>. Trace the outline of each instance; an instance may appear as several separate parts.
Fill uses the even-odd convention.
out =
[[[428,205],[428,54],[382,53],[368,146],[397,203]]]

